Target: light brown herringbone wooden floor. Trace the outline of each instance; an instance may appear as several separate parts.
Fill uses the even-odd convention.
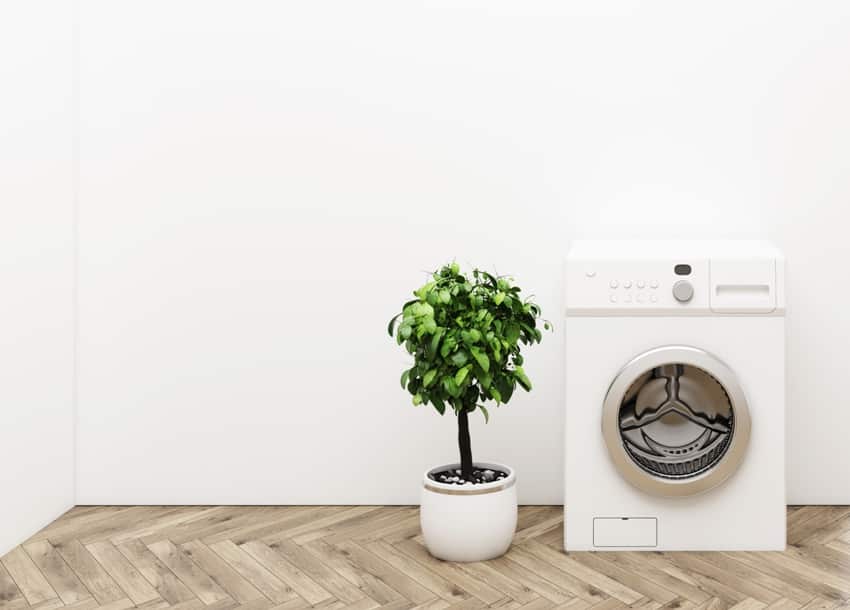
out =
[[[789,509],[784,553],[570,553],[524,507],[510,552],[431,558],[415,507],[77,507],[2,558],[0,607],[835,608],[850,507]]]

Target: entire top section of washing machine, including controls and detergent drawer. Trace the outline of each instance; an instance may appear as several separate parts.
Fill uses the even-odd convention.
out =
[[[568,315],[784,315],[781,252],[758,240],[577,240]]]

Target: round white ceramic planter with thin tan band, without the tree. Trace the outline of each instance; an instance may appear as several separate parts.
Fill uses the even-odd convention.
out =
[[[419,520],[428,551],[446,561],[484,561],[503,555],[516,531],[516,474],[503,464],[476,462],[476,468],[507,472],[500,481],[447,485],[428,475],[460,464],[428,470],[422,481]]]

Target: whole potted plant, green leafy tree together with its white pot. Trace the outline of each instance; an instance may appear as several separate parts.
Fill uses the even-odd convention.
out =
[[[481,561],[508,550],[516,530],[516,474],[504,464],[474,462],[469,416],[484,403],[510,401],[517,386],[531,390],[522,368],[523,345],[539,343],[540,307],[520,297],[508,277],[457,263],[443,266],[414,291],[415,299],[390,320],[388,332],[413,356],[401,386],[414,405],[430,404],[457,417],[460,461],[423,477],[420,522],[432,555]],[[549,323],[543,321],[549,329]]]

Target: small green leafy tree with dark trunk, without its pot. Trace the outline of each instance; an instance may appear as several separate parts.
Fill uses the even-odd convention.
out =
[[[521,344],[540,343],[540,307],[522,300],[511,279],[475,269],[470,280],[457,263],[443,266],[432,280],[414,291],[387,328],[413,355],[413,366],[401,374],[401,386],[413,404],[428,404],[444,414],[450,406],[458,421],[463,478],[472,480],[469,414],[481,404],[510,401],[519,384],[531,390],[522,369]],[[400,321],[399,321],[400,318]],[[549,322],[543,326],[549,329]]]

